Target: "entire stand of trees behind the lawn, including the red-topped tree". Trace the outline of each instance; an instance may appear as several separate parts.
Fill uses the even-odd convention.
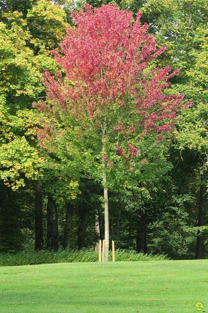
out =
[[[208,258],[206,4],[0,0],[0,253]]]

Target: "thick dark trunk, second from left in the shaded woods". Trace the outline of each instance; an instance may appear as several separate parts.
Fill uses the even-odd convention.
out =
[[[47,248],[55,251],[59,248],[57,206],[51,195],[47,203]]]

